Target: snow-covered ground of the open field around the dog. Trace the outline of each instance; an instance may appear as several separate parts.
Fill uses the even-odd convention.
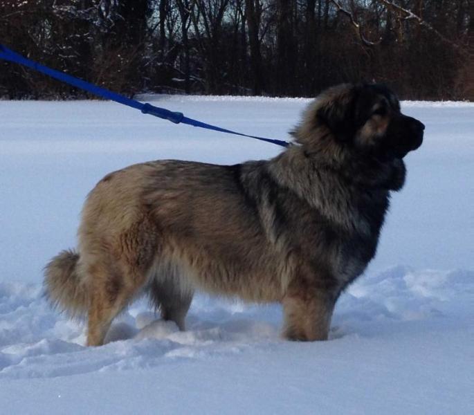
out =
[[[149,97],[148,97],[149,98]],[[287,139],[308,100],[160,97],[154,104]],[[426,124],[379,252],[339,300],[328,342],[278,337],[280,306],[199,295],[188,331],[144,301],[103,347],[42,298],[75,245],[86,193],[145,160],[238,163],[280,147],[175,126],[110,102],[0,101],[2,414],[467,414],[474,407],[474,104],[404,102]]]

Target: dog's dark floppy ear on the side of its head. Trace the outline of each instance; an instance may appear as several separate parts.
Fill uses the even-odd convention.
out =
[[[328,91],[324,103],[316,111],[318,124],[325,125],[341,141],[352,140],[354,136],[355,88]]]

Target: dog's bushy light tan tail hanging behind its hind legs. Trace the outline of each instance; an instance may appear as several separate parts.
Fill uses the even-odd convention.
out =
[[[86,287],[78,275],[78,260],[77,252],[64,250],[44,268],[46,297],[71,317],[83,317],[89,304]]]

